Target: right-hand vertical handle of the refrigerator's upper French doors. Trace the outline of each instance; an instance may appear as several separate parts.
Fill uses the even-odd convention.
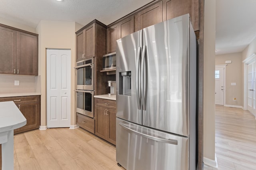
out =
[[[145,92],[144,92],[144,69],[146,68],[144,65],[146,65],[145,62],[145,56],[146,56],[146,45],[143,45],[142,47],[142,59],[141,59],[141,102],[142,102],[142,109],[146,110],[146,101],[145,101]],[[144,68],[145,67],[145,68]],[[146,71],[145,71],[146,72]],[[146,75],[145,75],[146,76]]]

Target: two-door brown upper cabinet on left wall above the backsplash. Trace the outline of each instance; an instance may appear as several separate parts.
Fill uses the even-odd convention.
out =
[[[0,74],[38,75],[38,35],[0,25]]]

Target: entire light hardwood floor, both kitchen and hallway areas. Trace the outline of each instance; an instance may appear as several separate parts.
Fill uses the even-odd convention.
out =
[[[218,170],[256,170],[255,117],[216,106],[215,119]],[[80,128],[14,135],[14,170],[124,170],[116,163],[114,145]]]

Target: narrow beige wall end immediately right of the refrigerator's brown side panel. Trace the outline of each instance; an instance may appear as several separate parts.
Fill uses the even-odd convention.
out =
[[[215,160],[215,0],[204,1],[204,161]]]

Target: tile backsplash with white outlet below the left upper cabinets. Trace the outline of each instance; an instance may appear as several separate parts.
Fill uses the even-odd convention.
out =
[[[14,86],[14,81],[19,80],[20,85]],[[36,92],[38,76],[0,75],[0,94]]]

